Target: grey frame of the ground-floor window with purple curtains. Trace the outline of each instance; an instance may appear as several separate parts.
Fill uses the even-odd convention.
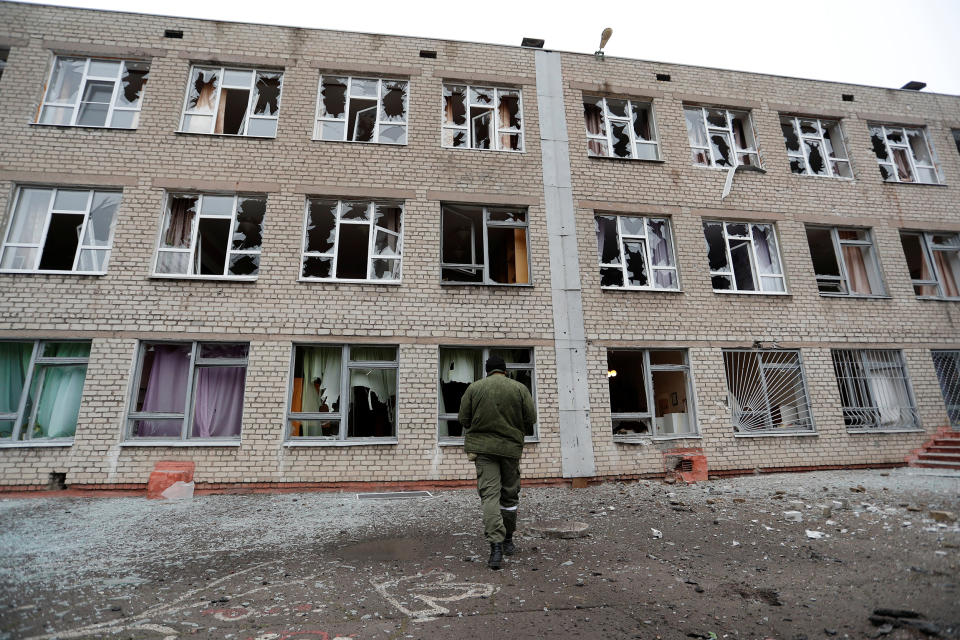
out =
[[[185,398],[183,405],[183,414],[163,411],[137,411],[137,393],[140,389],[140,381],[143,379],[143,362],[146,357],[147,347],[151,345],[190,345],[190,364],[185,389]],[[201,358],[199,355],[202,345],[221,345],[221,344],[242,344],[247,347],[247,355],[243,358]],[[249,342],[231,342],[229,340],[140,340],[137,342],[137,357],[134,360],[133,376],[130,379],[130,393],[128,394],[129,404],[124,416],[123,426],[123,444],[151,444],[164,443],[172,445],[185,445],[191,443],[226,445],[239,444],[243,438],[243,404],[247,401],[247,373],[249,372],[250,361],[250,343]],[[196,411],[197,400],[197,377],[200,369],[204,367],[239,367],[244,368],[243,382],[243,401],[240,406],[240,435],[238,436],[220,436],[214,438],[199,438],[191,435]],[[133,426],[137,420],[181,420],[180,437],[151,437],[133,435]]]

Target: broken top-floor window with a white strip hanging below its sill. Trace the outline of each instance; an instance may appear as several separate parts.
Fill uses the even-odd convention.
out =
[[[722,107],[683,108],[693,164],[733,169],[760,166],[753,123],[748,111]]]

